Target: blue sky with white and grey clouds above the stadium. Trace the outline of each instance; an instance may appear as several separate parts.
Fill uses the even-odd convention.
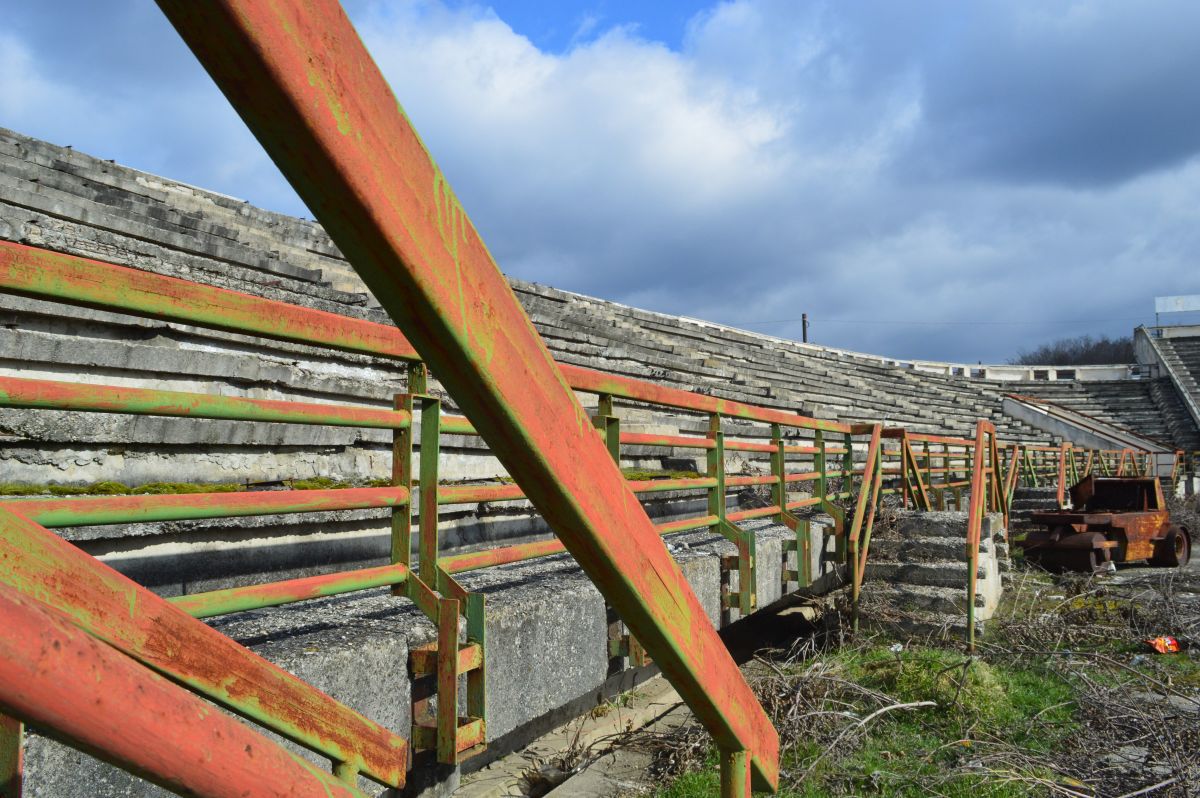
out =
[[[311,216],[152,2],[0,8],[0,126]],[[966,362],[1200,293],[1193,0],[347,11],[515,277]]]

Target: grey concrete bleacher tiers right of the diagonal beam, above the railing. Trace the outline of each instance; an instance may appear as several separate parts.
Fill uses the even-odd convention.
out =
[[[522,292],[524,288],[524,292]],[[1049,443],[1000,410],[1000,394],[961,378],[914,372],[714,324],[522,287],[522,301],[564,361],[672,380],[679,386],[841,421],[883,421],[918,432],[973,433],[979,418],[1002,437]],[[583,330],[581,328],[587,324]],[[586,330],[586,331],[584,331]],[[606,358],[601,366],[594,358]],[[703,380],[721,380],[708,388]]]

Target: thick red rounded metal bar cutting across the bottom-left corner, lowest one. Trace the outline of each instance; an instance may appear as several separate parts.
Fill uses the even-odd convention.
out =
[[[0,706],[10,718],[185,796],[365,798],[73,620],[0,584]]]

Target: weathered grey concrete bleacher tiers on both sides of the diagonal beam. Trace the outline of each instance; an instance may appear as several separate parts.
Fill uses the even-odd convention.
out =
[[[319,224],[6,131],[0,131],[0,238],[388,320]],[[962,437],[973,434],[976,421],[983,418],[996,424],[1002,439],[1055,443],[1052,436],[1002,410],[1006,392],[1034,392],[1044,384],[930,373],[877,356],[511,282],[563,362],[816,418],[882,421]],[[12,295],[0,295],[0,373],[370,407],[389,407],[407,385],[398,364],[378,358]],[[1052,383],[1045,390],[1066,391],[1072,401],[1110,390],[1112,398],[1097,398],[1082,409],[1123,414],[1124,424],[1184,446],[1188,436],[1195,437],[1195,425],[1177,407],[1171,410],[1164,402],[1117,396],[1144,392],[1146,384],[1090,385],[1100,384]],[[1171,394],[1169,385],[1151,383],[1150,389]],[[446,407],[455,410],[452,397],[446,397]],[[1158,414],[1134,414],[1134,408],[1150,407],[1157,407]],[[630,408],[625,412],[631,413]],[[703,432],[703,420],[695,416],[646,412],[634,418],[643,431]],[[8,409],[0,410],[0,431],[2,480],[8,482],[139,485],[162,480],[163,474],[185,482],[367,480],[390,474],[390,434],[373,430]],[[761,438],[768,430],[750,425],[738,434]],[[446,442],[443,454],[448,479],[503,475],[476,438]],[[624,464],[702,469],[695,450],[632,448]],[[731,462],[731,469],[739,468],[762,472],[766,458],[744,456]],[[528,505],[506,505],[488,514],[493,511],[499,517],[488,515],[488,520],[497,529],[517,530],[532,523]],[[331,521],[319,523],[330,528]],[[486,524],[475,509],[464,508],[461,523],[470,530],[466,536],[484,538]],[[248,529],[245,524],[235,526]],[[371,545],[383,551],[385,512],[343,514],[332,526],[356,541],[340,551],[361,553]],[[148,540],[188,529],[187,524],[168,524],[152,530]],[[368,545],[371,535],[376,544]],[[102,553],[102,541],[116,536],[116,530],[97,533],[95,540],[101,542],[89,545]],[[330,545],[341,547],[337,540],[334,535]],[[449,540],[454,542],[454,536]],[[166,578],[164,589],[176,582]]]

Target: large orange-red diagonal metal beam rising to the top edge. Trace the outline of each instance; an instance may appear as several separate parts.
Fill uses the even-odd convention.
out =
[[[716,744],[774,788],[774,727],[341,6],[158,5]]]

